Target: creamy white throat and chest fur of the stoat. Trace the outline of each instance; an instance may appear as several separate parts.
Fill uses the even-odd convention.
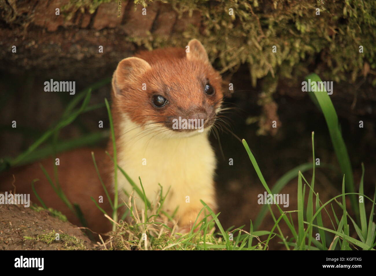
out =
[[[200,199],[216,208],[213,181],[216,160],[207,131],[183,138],[155,134],[137,128],[135,123],[124,118],[116,145],[118,165],[140,189],[138,177],[141,177],[146,196],[153,204],[160,191],[158,183],[163,186],[164,194],[171,186],[163,209],[171,214],[179,206],[176,218],[184,223],[196,218],[203,207]],[[143,165],[143,158],[146,158],[146,165]],[[132,191],[132,186],[119,170],[120,202],[121,199],[127,202],[123,188],[128,193]],[[136,193],[135,196],[138,197]],[[186,196],[189,196],[189,203],[186,203]],[[144,208],[139,199],[136,205],[138,210]]]

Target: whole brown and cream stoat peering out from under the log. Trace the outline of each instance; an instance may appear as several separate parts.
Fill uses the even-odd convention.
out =
[[[196,220],[203,208],[200,199],[214,211],[217,207],[216,159],[208,134],[223,98],[221,76],[209,63],[205,48],[196,39],[188,46],[186,50],[143,51],[121,60],[112,78],[111,96],[118,165],[136,184],[141,178],[146,196],[154,204],[160,189],[158,183],[164,191],[170,188],[163,208],[171,214],[179,206],[175,218],[182,228],[190,228]],[[114,153],[112,148],[110,139],[110,155]],[[111,229],[111,223],[90,198],[104,198],[100,207],[108,214],[112,210],[103,196],[92,151],[113,198],[114,164],[102,149],[82,148],[58,154],[59,183],[70,202],[79,204],[88,227],[105,233]],[[79,225],[76,215],[52,189],[39,163],[50,176],[54,175],[55,161],[50,158],[14,168],[0,176],[0,191],[17,187],[16,193],[30,194],[32,202],[37,203],[31,187],[37,178],[35,189],[45,205]],[[119,203],[128,202],[123,189],[130,193],[132,188],[120,171],[117,175]],[[136,204],[138,210],[144,207],[141,199]]]

